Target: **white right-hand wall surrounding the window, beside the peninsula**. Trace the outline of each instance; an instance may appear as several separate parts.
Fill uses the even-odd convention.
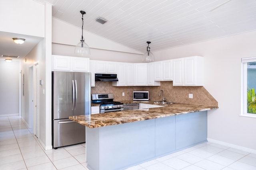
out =
[[[256,150],[256,119],[241,117],[241,58],[256,57],[256,31],[154,52],[156,60],[201,55],[204,87],[218,101],[208,138]]]

